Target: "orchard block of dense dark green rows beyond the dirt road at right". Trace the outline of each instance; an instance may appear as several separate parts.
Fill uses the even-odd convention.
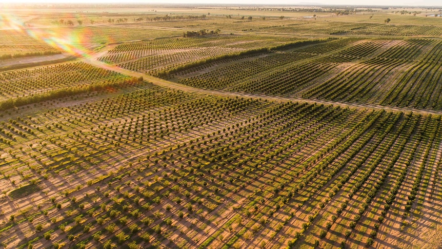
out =
[[[442,110],[441,46],[430,39],[348,38],[170,76],[207,89]]]

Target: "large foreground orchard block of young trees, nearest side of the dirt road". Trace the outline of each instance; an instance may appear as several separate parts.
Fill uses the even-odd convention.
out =
[[[1,118],[2,243],[400,247],[437,233],[439,116],[145,88]]]

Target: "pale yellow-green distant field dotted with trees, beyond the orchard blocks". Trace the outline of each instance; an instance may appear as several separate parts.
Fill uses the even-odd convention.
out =
[[[276,15],[275,15],[276,14]],[[131,26],[167,27],[180,29],[220,29],[228,32],[258,32],[293,35],[351,35],[351,36],[430,36],[440,37],[440,18],[423,16],[401,16],[386,13],[366,13],[336,16],[332,13],[306,12],[305,15],[289,17],[284,12],[256,14],[230,14],[206,16],[199,20],[158,20],[157,22],[136,22]],[[286,15],[286,16],[285,16]],[[312,18],[317,15],[316,18]],[[244,16],[244,17],[243,17]],[[280,18],[284,16],[283,18]],[[252,17],[250,20],[249,17]],[[264,18],[263,18],[264,17]],[[391,23],[385,20],[390,18]],[[118,24],[126,25],[126,24]]]

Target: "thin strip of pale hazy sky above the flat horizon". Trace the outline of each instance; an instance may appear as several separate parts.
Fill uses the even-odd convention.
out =
[[[178,4],[325,4],[325,5],[390,5],[390,6],[442,6],[441,0],[1,0],[3,3],[178,3]]]

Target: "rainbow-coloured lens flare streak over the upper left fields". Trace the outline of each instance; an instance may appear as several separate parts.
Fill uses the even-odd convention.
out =
[[[17,33],[26,33],[37,41],[62,49],[67,53],[89,58],[91,51],[84,47],[88,35],[84,28],[36,28],[27,27],[25,23],[6,14],[0,14],[0,29],[14,30]]]

